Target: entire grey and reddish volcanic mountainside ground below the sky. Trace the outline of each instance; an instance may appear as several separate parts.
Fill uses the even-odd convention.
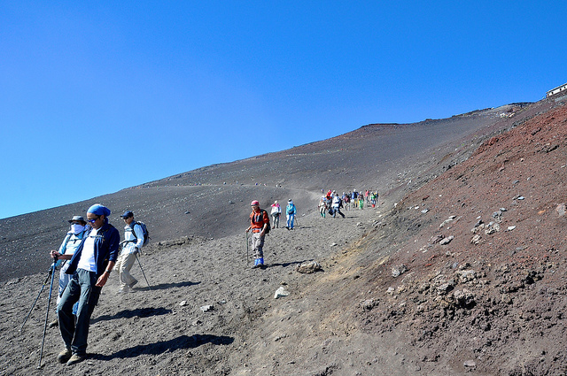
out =
[[[40,249],[40,240],[57,242],[65,233],[69,212],[100,201],[113,208],[115,224],[123,209],[144,214],[155,238],[141,257],[151,290],[136,265],[136,292],[116,295],[113,274],[92,317],[89,358],[73,367],[55,362],[62,342],[49,329],[43,368],[36,369],[46,293],[18,331],[45,279],[46,265],[34,260],[50,245],[22,253],[27,269],[10,277],[3,271],[0,370],[565,374],[564,100],[425,121],[423,138],[410,132],[420,124],[362,127],[3,219],[4,247],[27,242]],[[457,129],[458,119],[468,126]],[[403,141],[392,142],[392,134]],[[396,155],[388,144],[407,152]],[[377,157],[384,150],[396,157]],[[325,156],[331,152],[342,157]],[[321,188],[377,188],[381,198],[377,208],[322,219],[315,209]],[[273,230],[268,267],[252,270],[244,234],[249,201],[258,198],[266,208],[290,197],[299,225]],[[19,221],[35,218],[45,224],[35,238],[18,235]],[[306,261],[322,271],[297,272]],[[289,295],[276,299],[278,288]]]

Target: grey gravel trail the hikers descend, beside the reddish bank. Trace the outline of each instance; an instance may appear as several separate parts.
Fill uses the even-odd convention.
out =
[[[255,335],[260,318],[283,309],[309,284],[320,280],[334,265],[331,257],[359,239],[379,215],[377,209],[367,208],[345,210],[346,219],[322,219],[315,207],[314,200],[313,211],[306,215],[299,211],[293,230],[271,231],[265,244],[265,270],[252,269],[252,262],[245,260],[245,226],[242,234],[226,238],[193,239],[182,247],[164,244],[148,248],[140,261],[151,290],[136,265],[136,293],[117,295],[118,280],[113,273],[93,314],[89,359],[74,367],[66,368],[55,361],[62,342],[58,330],[49,329],[43,370],[35,369],[47,293],[37,303],[23,334],[18,334],[18,328],[45,277],[35,274],[13,280],[0,290],[0,346],[8,349],[0,356],[0,369],[7,372],[3,374],[27,375],[264,372],[266,364],[250,364],[256,346],[251,335]],[[284,218],[280,226],[283,223]],[[323,272],[295,271],[308,260],[320,263]],[[290,296],[275,300],[280,286],[288,289]],[[210,311],[206,311],[207,305]],[[54,318],[52,307],[50,318]],[[278,330],[268,329],[275,335]],[[14,351],[20,356],[16,357]]]

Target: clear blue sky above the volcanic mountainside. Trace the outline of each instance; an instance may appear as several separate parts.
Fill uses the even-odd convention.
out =
[[[0,218],[369,123],[537,101],[567,82],[565,14],[532,1],[4,0]]]

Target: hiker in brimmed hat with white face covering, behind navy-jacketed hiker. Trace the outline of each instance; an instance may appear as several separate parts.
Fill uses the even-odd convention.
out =
[[[71,257],[73,257],[75,250],[77,250],[79,245],[81,245],[82,239],[90,231],[90,227],[87,227],[87,221],[80,215],[76,215],[73,219],[69,219],[69,223],[71,224],[71,228],[69,229],[69,232],[67,232],[65,239],[63,239],[59,250],[50,251],[51,257],[53,257],[53,255],[58,255],[57,265],[62,265],[61,271],[59,272],[59,293],[57,295],[57,303],[61,301],[61,295],[63,295],[63,291],[65,291],[69,280],[71,280],[71,276],[66,274],[66,271],[69,268],[67,260],[70,260]],[[78,305],[75,304],[73,310],[74,313],[76,313],[77,307]],[[58,319],[55,318],[55,320],[50,322],[50,327],[58,326],[58,323]]]

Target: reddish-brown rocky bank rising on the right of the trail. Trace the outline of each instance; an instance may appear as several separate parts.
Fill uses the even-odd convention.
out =
[[[409,195],[387,219],[407,234],[374,234],[398,250],[367,268],[363,330],[403,333],[426,373],[567,373],[566,169],[562,105]]]

